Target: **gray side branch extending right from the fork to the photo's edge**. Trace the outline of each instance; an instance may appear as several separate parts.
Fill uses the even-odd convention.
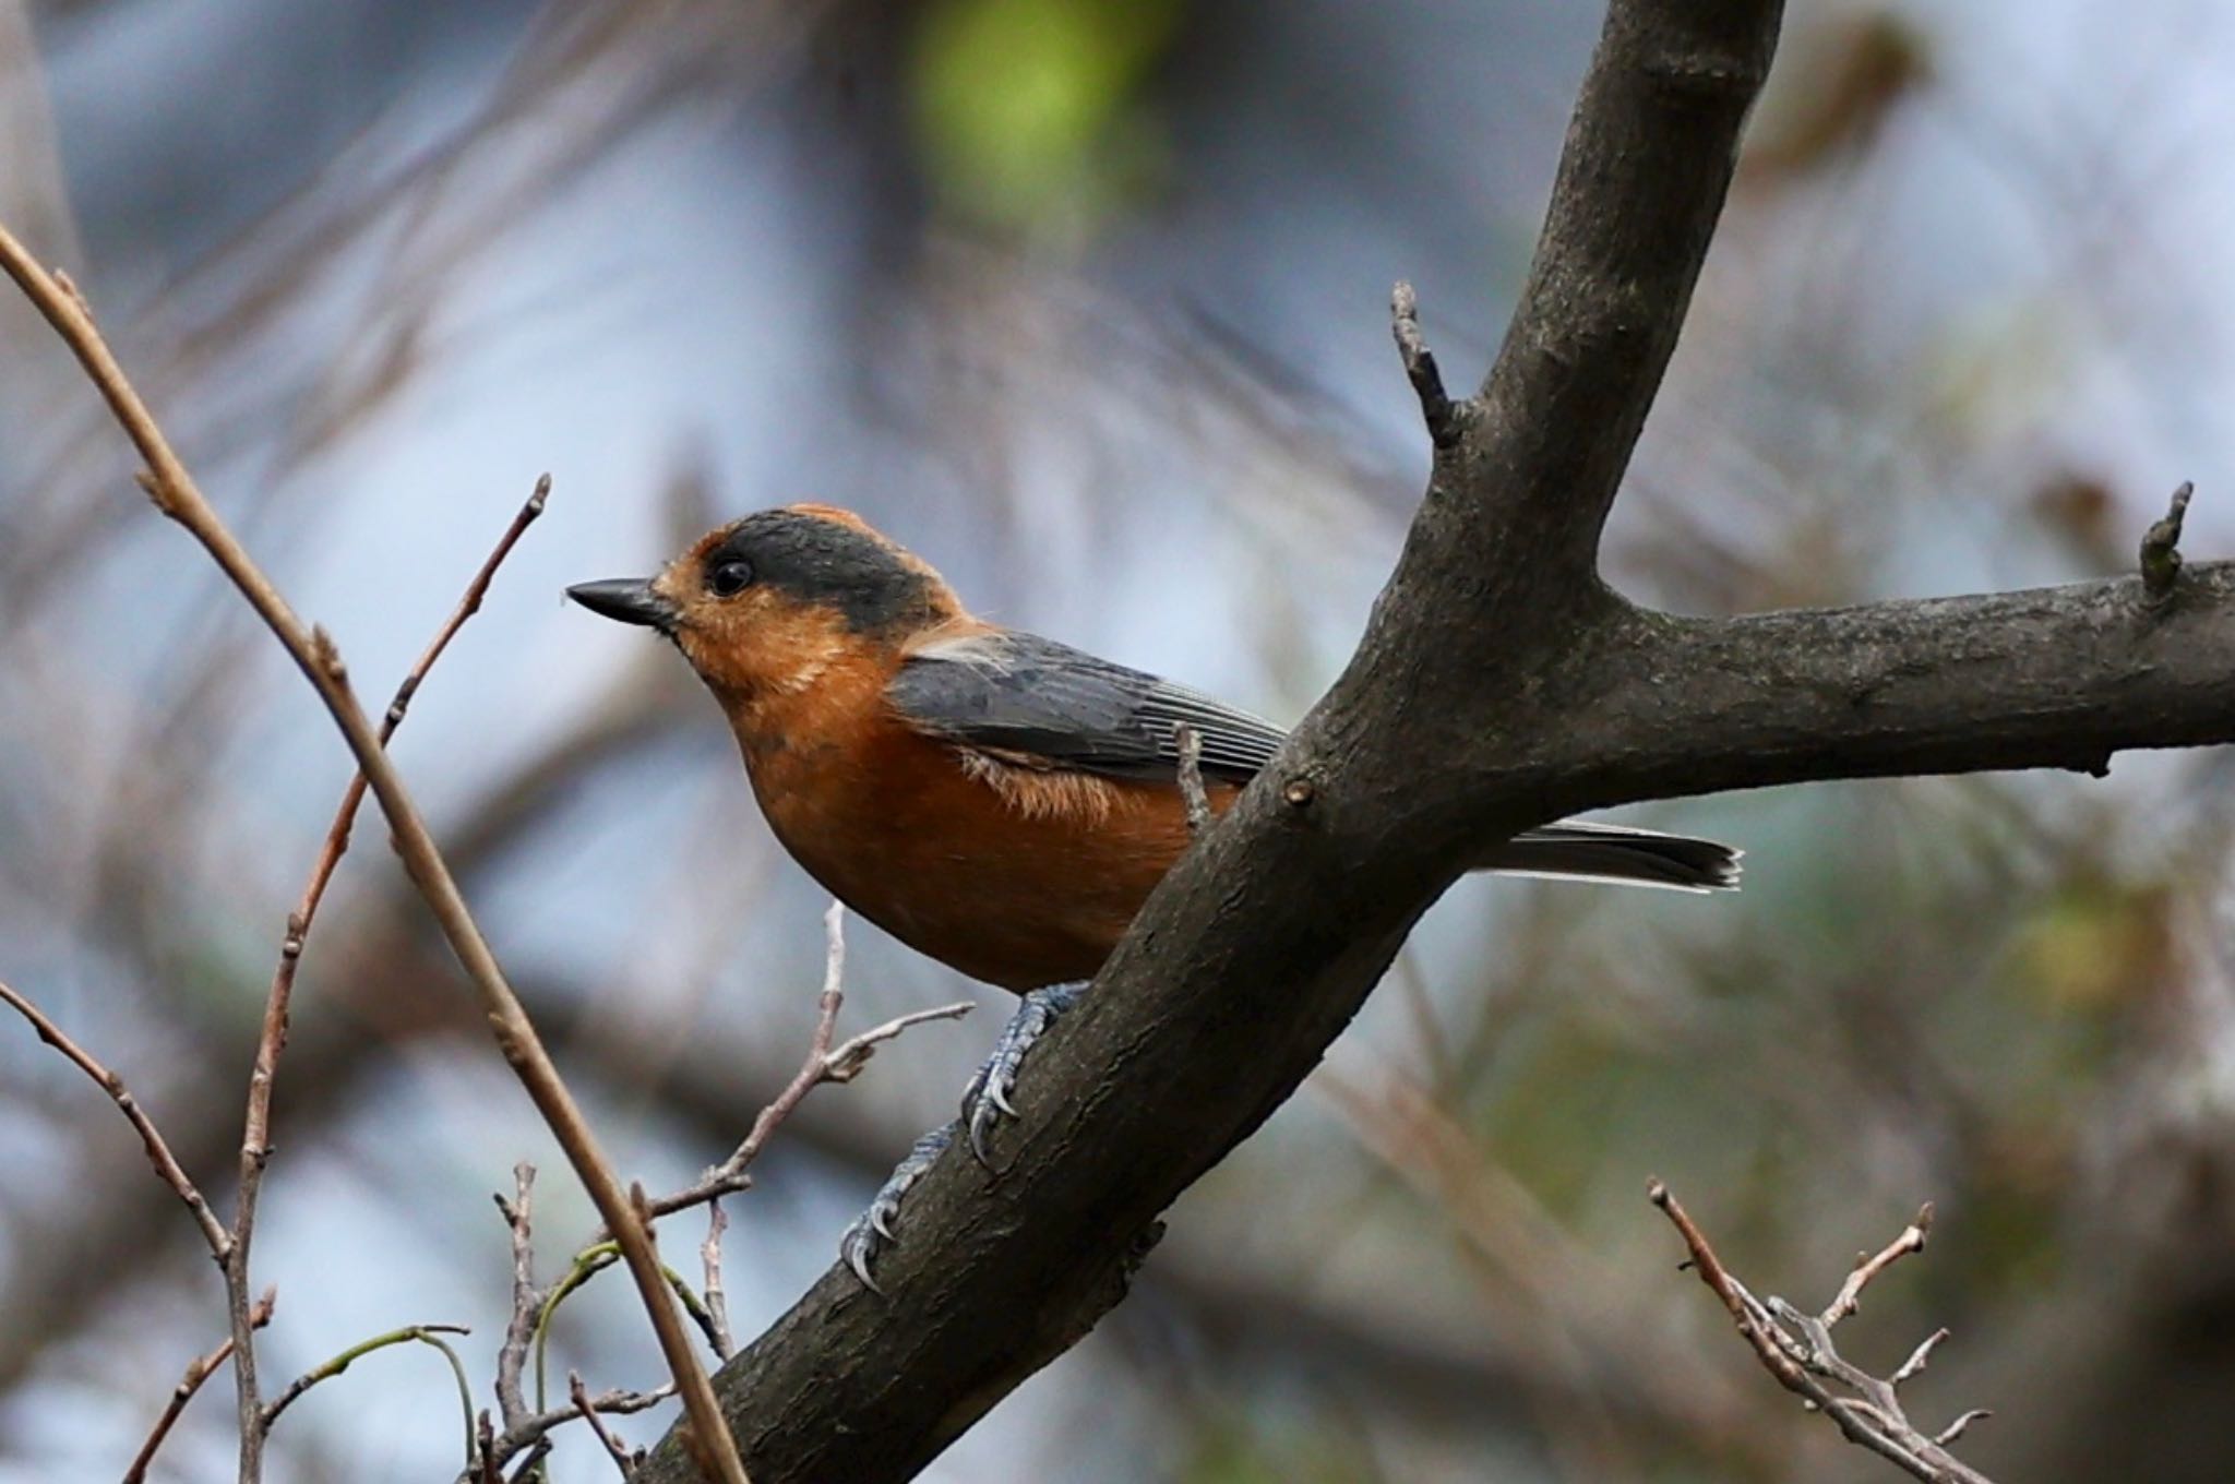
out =
[[[1629,612],[1564,738],[1491,762],[1562,809],[1721,789],[2003,769],[2235,740],[2235,563],[2143,581],[1804,608]]]

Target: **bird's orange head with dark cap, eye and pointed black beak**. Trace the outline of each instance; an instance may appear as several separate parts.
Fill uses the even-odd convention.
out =
[[[717,695],[811,686],[849,655],[896,655],[961,617],[948,583],[834,505],[762,510],[711,530],[650,579],[579,583],[590,612],[655,628]]]

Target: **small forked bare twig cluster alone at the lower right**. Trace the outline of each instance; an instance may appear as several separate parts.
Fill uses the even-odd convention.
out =
[[[1889,1243],[1877,1256],[1866,1256],[1855,1265],[1855,1272],[1839,1285],[1839,1294],[1824,1314],[1808,1314],[1777,1296],[1770,1296],[1768,1303],[1754,1298],[1723,1267],[1721,1258],[1714,1256],[1708,1234],[1699,1229],[1667,1185],[1654,1180],[1645,1193],[1670,1218],[1678,1236],[1683,1236],[1683,1245],[1692,1254],[1690,1265],[1699,1272],[1701,1283],[1723,1301],[1732,1323],[1739,1325],[1739,1334],[1754,1348],[1754,1357],[1763,1370],[1777,1377],[1779,1386],[1830,1417],[1848,1442],[1868,1448],[1918,1480],[1927,1480],[1927,1484],[1991,1484],[1987,1475],[1947,1450],[1971,1421],[1991,1412],[1965,1412],[1938,1435],[1927,1435],[1902,1410],[1898,1388],[1924,1370],[1924,1359],[1933,1345],[1947,1339],[1947,1330],[1918,1345],[1902,1361],[1900,1370],[1886,1379],[1877,1379],[1844,1359],[1830,1341],[1833,1325],[1855,1312],[1855,1298],[1873,1278],[1902,1256],[1924,1249],[1924,1229],[1931,1225],[1929,1205],[1902,1236]]]

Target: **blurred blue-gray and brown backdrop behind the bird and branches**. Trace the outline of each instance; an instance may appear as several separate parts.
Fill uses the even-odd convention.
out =
[[[565,507],[396,746],[617,1155],[679,1187],[796,1071],[820,894],[679,666],[559,588],[836,498],[997,619],[1292,720],[1426,460],[1383,288],[1415,277],[1448,375],[1486,362],[1594,29],[1444,0],[11,2],[0,219],[94,293],[364,675],[454,599],[429,543],[478,548],[557,472]],[[2226,552],[2231,56],[2193,0],[1795,4],[1609,577],[1737,612],[2128,572],[2184,476],[2188,550]],[[63,371],[0,360],[0,970],[132,1068],[224,1200],[270,941],[346,764],[143,530]],[[1658,1169],[1714,1191],[1737,1272],[1842,1272],[1842,1231],[1931,1191],[1933,1261],[1848,1343],[1956,1328],[1944,1395],[2034,1412],[1965,1439],[1994,1477],[2217,1484],[2226,784],[2199,753],[1652,811],[1748,845],[1714,914],[1455,890],[1332,1057],[1435,1120],[1285,1109],[1106,1332],[930,1477],[1884,1477],[1667,1283],[1636,1207]],[[297,986],[259,1238],[279,1374],[431,1312],[487,1377],[487,1191],[554,1158],[400,890],[384,852],[346,863]],[[860,1024],[966,988],[869,930],[854,965]],[[990,1035],[907,1037],[787,1122],[731,1202],[740,1332]],[[116,1477],[215,1287],[139,1142],[29,1037],[0,1041],[0,1477]],[[595,1227],[539,1196],[554,1240]],[[1580,1276],[1529,1285],[1486,1240]],[[570,1301],[554,1366],[655,1377],[624,1316]],[[1636,1388],[1594,1343],[1623,1328],[1699,1357],[1683,1386]],[[443,1475],[438,1397],[360,1368],[291,1410],[273,1471]],[[230,1455],[203,1399],[163,1459]],[[552,1468],[612,1475],[588,1437]]]

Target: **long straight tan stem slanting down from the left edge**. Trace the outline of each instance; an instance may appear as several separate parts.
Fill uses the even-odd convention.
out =
[[[729,1424],[715,1401],[713,1386],[706,1381],[706,1370],[700,1366],[697,1352],[691,1348],[691,1336],[684,1332],[682,1316],[668,1301],[666,1283],[659,1272],[659,1258],[653,1252],[650,1231],[646,1231],[641,1223],[637,1223],[635,1211],[630,1211],[628,1193],[612,1173],[612,1164],[599,1149],[597,1135],[583,1120],[581,1109],[574,1104],[574,1095],[559,1077],[559,1068],[543,1048],[543,1039],[527,1019],[527,1010],[521,1006],[519,995],[507,983],[503,965],[496,961],[496,952],[489,948],[489,941],[483,936],[472,910],[465,905],[465,896],[458,892],[449,863],[436,847],[418,805],[402,782],[402,776],[380,749],[378,733],[367,720],[364,708],[358,704],[355,693],[349,688],[349,673],[342,666],[342,657],[335,650],[333,639],[326,637],[324,630],[308,628],[299,617],[295,617],[288,601],[261,572],[261,568],[257,568],[255,559],[248,556],[248,550],[241,548],[239,539],[235,539],[230,527],[226,527],[203,498],[194,478],[172,451],[163,429],[148,411],[148,405],[116,364],[116,355],[103,340],[101,329],[94,324],[94,317],[76,286],[65,275],[40,268],[22,244],[16,241],[16,237],[4,228],[0,228],[0,268],[16,279],[25,295],[29,295],[31,304],[72,349],[94,387],[101,391],[103,400],[110,405],[110,411],[116,413],[125,436],[139,449],[141,458],[148,460],[148,472],[141,483],[156,510],[186,525],[203,550],[210,552],[226,577],[232,579],[232,586],[241,592],[241,597],[248,599],[248,606],[257,610],[264,624],[288,650],[288,657],[295,659],[295,666],[320,693],[320,700],[326,702],[326,711],[349,740],[349,749],[358,755],[358,767],[364,769],[373,798],[380,800],[382,814],[389,816],[396,849],[405,860],[411,883],[427,901],[436,923],[443,927],[443,936],[449,941],[451,952],[458,957],[458,963],[465,968],[467,979],[472,979],[474,990],[481,997],[483,1012],[489,1019],[489,1028],[496,1035],[496,1044],[503,1050],[505,1062],[512,1064],[512,1071],[521,1077],[521,1084],[534,1100],[536,1111],[543,1113],[545,1124],[550,1124],[557,1135],[559,1147],[574,1167],[574,1173],[590,1191],[590,1200],[597,1205],[606,1225],[615,1231],[624,1254],[628,1256],[630,1276],[637,1281],[637,1292],[644,1298],[646,1314],[650,1314],[653,1332],[659,1336],[659,1348],[666,1354],[668,1368],[675,1372],[684,1410],[691,1417],[695,1453],[704,1466],[722,1480],[722,1484],[746,1484],[744,1464],[738,1459],[738,1446],[729,1435]],[[253,1433],[255,1428],[244,1428],[244,1484],[255,1484],[261,1477],[255,1439],[250,1437]]]

